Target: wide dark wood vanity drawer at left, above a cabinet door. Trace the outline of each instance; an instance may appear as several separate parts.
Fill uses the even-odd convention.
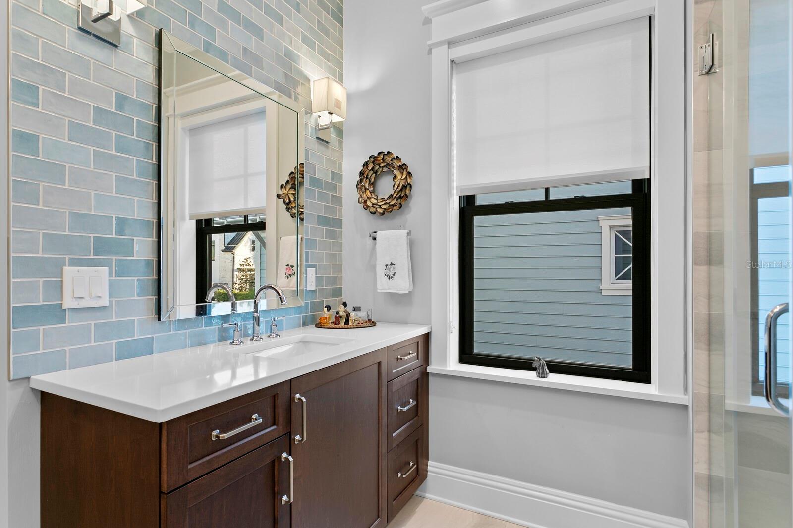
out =
[[[289,431],[290,382],[163,423],[161,488],[170,492]]]

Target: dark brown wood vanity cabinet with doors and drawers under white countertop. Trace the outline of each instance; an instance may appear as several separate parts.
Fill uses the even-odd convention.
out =
[[[42,392],[41,526],[385,526],[427,478],[427,343],[165,423]]]

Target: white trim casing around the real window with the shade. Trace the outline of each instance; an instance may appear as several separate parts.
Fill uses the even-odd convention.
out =
[[[657,395],[657,398],[646,399],[664,401],[668,396],[679,396],[690,404],[687,369],[691,365],[688,358],[691,339],[687,321],[691,318],[692,297],[687,221],[691,218],[691,191],[685,148],[690,116],[687,117],[686,111],[687,90],[683,87],[690,90],[691,75],[687,69],[690,61],[686,48],[685,3],[662,0],[538,0],[513,2],[509,6],[504,6],[500,0],[481,0],[475,5],[450,3],[458,3],[458,9],[439,14],[424,10],[432,21],[428,43],[432,74],[431,259],[435,269],[446,271],[445,277],[432,281],[431,288],[432,370],[437,373],[465,370],[465,365],[458,361],[459,201],[455,191],[454,113],[451,111],[454,107],[454,61],[652,16],[652,383],[632,385],[637,385],[636,392],[649,391]],[[527,36],[521,33],[528,25],[542,30],[542,34]],[[508,111],[506,102],[504,109]],[[659,284],[665,286],[659,288]],[[508,369],[500,370],[502,377],[510,377]],[[476,377],[475,373],[471,377]],[[565,385],[559,377],[554,376],[554,379],[558,381],[556,388]]]

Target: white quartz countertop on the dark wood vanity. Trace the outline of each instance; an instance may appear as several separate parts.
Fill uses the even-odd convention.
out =
[[[260,343],[219,342],[42,374],[31,377],[30,386],[160,423],[429,331],[428,325],[397,323],[355,330],[302,327]],[[312,336],[335,342],[297,353],[288,346]],[[259,352],[262,347],[281,351],[268,356]]]

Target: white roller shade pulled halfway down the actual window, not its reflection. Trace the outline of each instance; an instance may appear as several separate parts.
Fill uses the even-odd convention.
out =
[[[459,194],[647,178],[649,20],[460,63]]]

